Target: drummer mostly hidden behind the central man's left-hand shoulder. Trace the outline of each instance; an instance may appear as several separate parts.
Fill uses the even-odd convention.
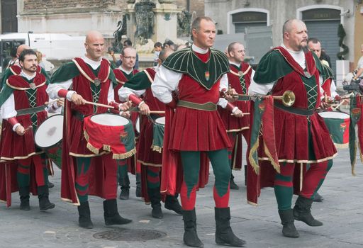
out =
[[[167,48],[160,51],[159,65],[162,61],[174,52]],[[157,67],[158,68],[158,67]],[[141,184],[142,196],[145,203],[151,202],[152,217],[163,218],[160,201],[160,169],[162,167],[162,147],[152,147],[153,129],[155,120],[164,116],[162,113],[151,113],[151,111],[165,111],[165,104],[157,100],[152,95],[151,85],[154,81],[157,69],[146,68],[142,72],[135,74],[125,85],[118,91],[122,101],[132,101],[138,106],[142,114],[140,121],[140,137],[138,141],[138,162],[141,163]],[[143,97],[142,99],[140,97]],[[167,195],[164,199],[165,208],[174,210],[181,214],[181,206],[177,196]]]

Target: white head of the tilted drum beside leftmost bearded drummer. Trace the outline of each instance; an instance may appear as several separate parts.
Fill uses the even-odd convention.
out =
[[[34,140],[38,147],[52,147],[63,138],[63,115],[52,115],[35,132]]]

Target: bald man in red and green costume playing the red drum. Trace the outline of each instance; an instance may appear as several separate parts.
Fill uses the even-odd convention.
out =
[[[117,164],[111,153],[100,150],[94,154],[87,149],[84,137],[84,118],[105,113],[108,109],[86,104],[101,103],[125,109],[114,101],[115,75],[110,62],[102,58],[104,36],[98,31],[86,35],[86,55],[76,57],[62,65],[53,74],[48,86],[50,98],[67,99],[63,132],[62,188],[65,201],[78,205],[79,226],[92,228],[88,195],[100,196],[104,201],[106,225],[122,225],[131,220],[124,219],[117,210]],[[101,155],[101,156],[100,156]],[[96,157],[98,156],[98,157]]]

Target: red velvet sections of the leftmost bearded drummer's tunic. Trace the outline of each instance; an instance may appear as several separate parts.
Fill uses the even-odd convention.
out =
[[[35,98],[36,106],[44,106],[44,103],[48,101],[48,94],[46,79],[43,74],[37,72],[33,79],[35,84]],[[24,108],[30,108],[29,98],[26,94],[26,89],[30,89],[29,82],[21,76],[13,75],[9,77],[6,83],[11,89],[13,89],[13,95],[15,99],[15,110],[18,111]],[[36,115],[36,127],[38,127],[47,118],[47,111],[40,111],[35,113]],[[23,125],[24,128],[32,126],[32,120],[30,114],[16,116],[18,123]],[[28,130],[25,135],[18,135],[13,132],[12,125],[7,120],[3,120],[1,131],[1,160],[11,161],[13,159],[25,159],[35,154],[35,141],[34,131]],[[39,152],[42,153],[42,152]]]

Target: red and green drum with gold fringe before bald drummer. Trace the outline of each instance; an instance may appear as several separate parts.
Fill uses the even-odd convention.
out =
[[[113,159],[126,159],[135,154],[135,133],[128,118],[99,113],[84,118],[87,148],[94,154],[100,150],[113,153]]]

